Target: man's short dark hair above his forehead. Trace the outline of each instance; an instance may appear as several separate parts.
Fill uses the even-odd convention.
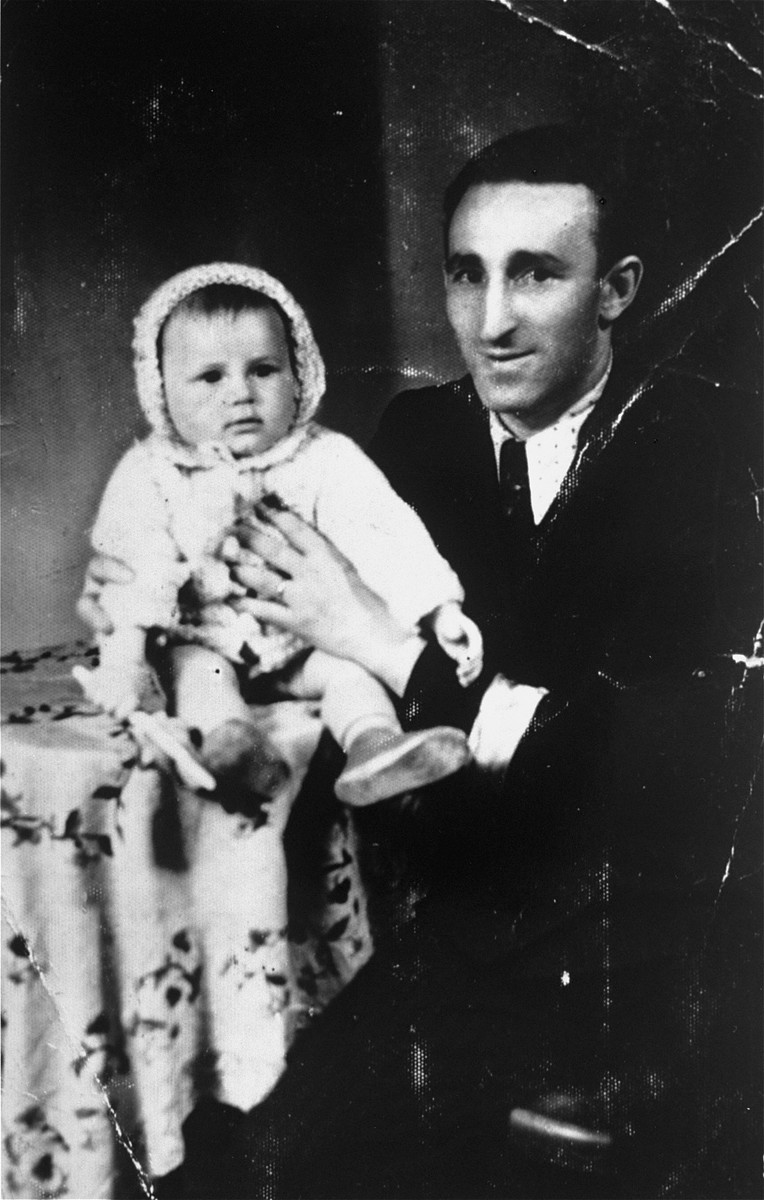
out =
[[[444,245],[453,214],[470,187],[480,184],[584,184],[597,206],[597,269],[609,270],[625,254],[638,253],[634,191],[627,186],[625,143],[589,127],[540,125],[507,133],[470,158],[446,188]]]

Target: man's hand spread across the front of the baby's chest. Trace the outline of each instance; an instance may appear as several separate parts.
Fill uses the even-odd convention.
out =
[[[246,522],[237,527],[242,548],[231,566],[247,595],[236,607],[357,662],[401,694],[423,642],[398,624],[323,534],[276,505],[255,510],[273,532]]]

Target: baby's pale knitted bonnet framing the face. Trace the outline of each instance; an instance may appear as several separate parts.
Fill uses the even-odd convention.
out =
[[[136,317],[133,337],[136,386],[140,406],[155,432],[178,439],[164,398],[157,338],[173,310],[192,292],[210,283],[233,283],[273,300],[289,322],[297,377],[297,415],[294,427],[307,425],[324,395],[324,362],[302,308],[272,275],[242,263],[207,263],[191,266],[152,292]]]

